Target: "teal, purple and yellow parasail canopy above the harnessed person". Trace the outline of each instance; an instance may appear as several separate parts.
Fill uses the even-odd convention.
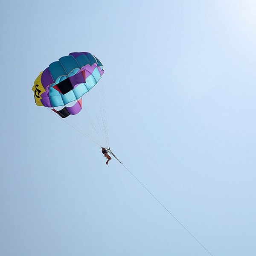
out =
[[[82,109],[82,96],[101,79],[103,65],[89,52],[72,52],[49,64],[35,79],[32,90],[38,106],[51,108],[62,118]]]

